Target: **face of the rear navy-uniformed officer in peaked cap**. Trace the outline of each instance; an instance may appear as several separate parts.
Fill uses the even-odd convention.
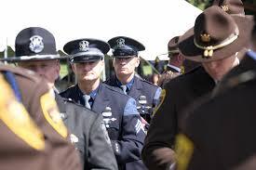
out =
[[[115,68],[115,74],[117,76],[130,75],[135,72],[140,64],[140,59],[134,56],[129,58],[115,58],[113,66]]]

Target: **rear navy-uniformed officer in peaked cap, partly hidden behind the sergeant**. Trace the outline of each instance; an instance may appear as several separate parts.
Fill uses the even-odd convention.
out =
[[[161,88],[136,76],[135,69],[140,64],[139,51],[145,47],[138,41],[117,36],[108,41],[113,48],[115,76],[106,84],[119,87],[131,98],[136,99],[141,117],[150,123],[152,113],[159,102]]]

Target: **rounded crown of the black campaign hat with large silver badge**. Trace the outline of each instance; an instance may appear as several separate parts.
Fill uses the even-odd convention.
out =
[[[16,36],[17,57],[34,55],[57,55],[55,38],[52,33],[40,27],[26,28]]]

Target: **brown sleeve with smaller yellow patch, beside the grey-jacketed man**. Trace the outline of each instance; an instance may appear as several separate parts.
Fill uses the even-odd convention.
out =
[[[22,97],[24,103],[26,103],[26,108],[34,117],[35,123],[43,131],[49,147],[46,153],[46,169],[82,169],[78,153],[65,136],[66,127],[63,127],[56,102],[53,97],[49,98],[47,84],[40,81],[34,83],[34,85],[29,85],[29,90],[27,87],[27,85],[20,83],[20,89],[27,90]],[[52,107],[48,108],[47,103],[53,104]]]

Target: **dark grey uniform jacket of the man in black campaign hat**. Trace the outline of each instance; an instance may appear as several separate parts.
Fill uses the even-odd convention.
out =
[[[79,151],[84,170],[115,170],[117,164],[101,114],[55,95],[61,118]],[[102,126],[103,125],[103,126]]]

